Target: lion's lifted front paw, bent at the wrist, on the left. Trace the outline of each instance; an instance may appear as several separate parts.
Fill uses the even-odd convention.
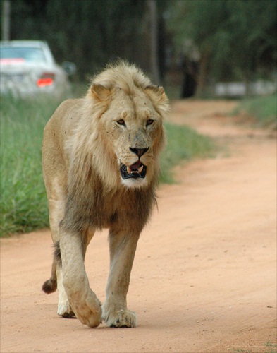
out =
[[[92,292],[85,300],[75,301],[74,304],[71,302],[71,305],[75,315],[84,325],[95,328],[101,323],[101,303]]]

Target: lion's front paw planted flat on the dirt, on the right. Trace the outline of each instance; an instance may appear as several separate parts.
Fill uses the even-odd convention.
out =
[[[103,317],[106,325],[111,328],[135,328],[137,327],[137,315],[135,311],[120,310],[109,313]]]

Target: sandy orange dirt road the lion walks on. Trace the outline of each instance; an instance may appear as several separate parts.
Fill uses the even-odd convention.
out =
[[[176,102],[171,119],[223,148],[178,167],[144,229],[128,306],[137,328],[56,316],[48,230],[1,240],[1,352],[276,352],[276,139],[224,117],[233,102]],[[104,301],[107,234],[87,252]]]

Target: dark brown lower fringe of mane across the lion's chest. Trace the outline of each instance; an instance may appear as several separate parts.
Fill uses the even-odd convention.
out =
[[[101,179],[94,172],[90,177],[94,178],[94,182],[89,182],[81,195],[72,192],[68,196],[66,216],[61,226],[68,232],[83,232],[90,226],[141,232],[157,204],[156,181],[140,189],[122,186],[105,193]]]

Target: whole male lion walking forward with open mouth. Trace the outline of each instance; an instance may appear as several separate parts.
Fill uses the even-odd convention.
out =
[[[51,278],[58,314],[97,327],[135,327],[127,308],[140,233],[156,204],[159,155],[169,104],[133,64],[94,76],[87,95],[61,103],[44,128],[42,167],[55,244]],[[97,229],[109,229],[110,271],[101,305],[90,289],[85,253]]]

